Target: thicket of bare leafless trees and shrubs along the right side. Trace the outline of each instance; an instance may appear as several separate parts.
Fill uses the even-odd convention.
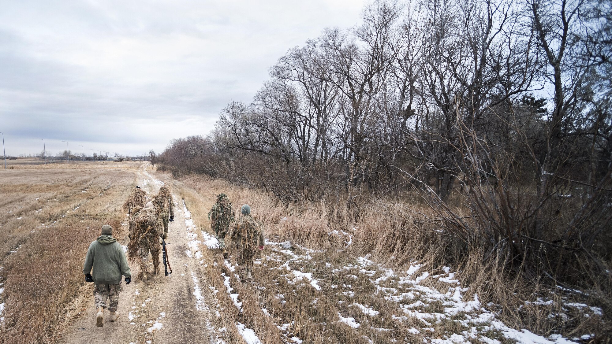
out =
[[[610,280],[610,1],[373,2],[292,48],[158,163],[325,202],[419,195],[453,241],[555,282]],[[346,209],[339,212],[338,209]],[[610,306],[610,305],[608,305]]]

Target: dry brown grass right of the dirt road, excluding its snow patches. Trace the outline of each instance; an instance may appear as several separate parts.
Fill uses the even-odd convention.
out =
[[[398,321],[393,315],[398,315],[398,307],[412,301],[391,302],[375,296],[375,288],[371,280],[381,277],[381,272],[375,272],[372,277],[365,277],[359,272],[359,267],[351,267],[341,272],[347,264],[354,264],[356,257],[370,254],[370,260],[382,263],[394,271],[406,271],[409,263],[419,261],[425,271],[437,274],[443,266],[452,266],[453,271],[459,271],[455,277],[461,280],[462,286],[469,286],[464,294],[468,299],[478,294],[480,301],[488,309],[499,312],[498,319],[507,326],[517,329],[529,329],[540,335],[561,333],[565,336],[580,336],[582,334],[596,335],[597,340],[606,342],[610,329],[610,321],[600,316],[584,316],[575,310],[563,310],[564,302],[583,302],[589,305],[599,305],[595,299],[577,293],[562,293],[560,290],[551,293],[550,284],[539,281],[529,281],[523,276],[507,274],[495,261],[483,263],[485,252],[474,247],[465,250],[460,246],[455,249],[452,237],[439,231],[436,222],[427,219],[434,214],[423,213],[423,204],[380,202],[371,204],[362,211],[359,222],[351,225],[330,223],[324,214],[329,214],[326,204],[282,204],[272,195],[259,190],[247,189],[228,182],[211,179],[205,176],[189,176],[182,179],[185,185],[198,194],[183,188],[183,197],[188,209],[192,212],[196,225],[204,231],[212,233],[206,214],[211,208],[218,193],[226,193],[234,206],[239,209],[242,204],[250,204],[255,217],[263,220],[266,236],[270,241],[283,242],[289,240],[294,244],[310,249],[323,250],[312,253],[310,260],[294,260],[290,266],[293,270],[312,272],[319,280],[321,290],[315,290],[308,283],[288,283],[287,271],[278,269],[288,259],[283,253],[270,251],[273,245],[268,245],[266,255],[280,258],[259,260],[255,265],[255,286],[243,285],[234,272],[223,266],[223,260],[218,251],[203,248],[206,275],[209,283],[219,292],[214,293],[215,302],[220,310],[218,326],[228,328],[228,342],[242,343],[242,338],[235,331],[236,324],[242,323],[256,329],[256,334],[264,343],[291,343],[295,335],[305,343],[387,343],[392,340],[400,342],[419,343],[424,334],[411,332],[412,327],[422,327],[415,318]],[[206,200],[206,201],[204,201]],[[330,234],[337,230],[339,235]],[[342,233],[346,233],[346,235]],[[351,235],[350,239],[348,235]],[[351,245],[348,245],[351,241]],[[231,242],[226,238],[226,244]],[[304,250],[294,245],[293,252],[304,255]],[[449,252],[453,252],[449,254]],[[235,251],[234,251],[235,253]],[[210,263],[214,262],[214,263]],[[223,285],[224,276],[230,276],[234,291],[239,294],[243,303],[243,311],[234,306]],[[386,286],[395,286],[390,279]],[[339,286],[332,288],[331,286]],[[427,280],[424,286],[444,290],[446,285],[436,279]],[[345,287],[346,286],[346,287]],[[408,289],[406,289],[408,291]],[[352,292],[354,296],[347,296]],[[400,290],[401,292],[401,290]],[[278,297],[282,294],[283,297]],[[552,299],[551,305],[528,304],[537,301],[538,297]],[[362,313],[359,308],[351,307],[353,302],[372,307],[380,314],[375,318]],[[442,312],[442,302],[433,302],[422,308],[423,312]],[[266,308],[271,314],[262,312]],[[555,309],[556,308],[556,309]],[[420,310],[419,307],[411,308]],[[568,319],[550,318],[552,313],[567,313]],[[338,313],[344,317],[353,317],[361,326],[353,329],[338,322]],[[463,328],[454,320],[463,319],[463,313],[453,318],[433,324],[433,332],[427,333],[429,338],[444,338],[449,333],[458,333]],[[278,326],[288,324],[283,329]],[[385,328],[390,331],[377,331],[373,328]],[[492,331],[491,338],[501,342],[512,343]],[[476,341],[477,342],[477,341]]]

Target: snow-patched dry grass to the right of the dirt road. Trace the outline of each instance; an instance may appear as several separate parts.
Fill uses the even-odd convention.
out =
[[[523,297],[520,304],[491,302],[496,300],[492,293],[498,289],[488,286],[503,280],[486,280],[491,271],[474,274],[476,267],[483,267],[476,257],[474,266],[458,267],[442,260],[439,252],[426,252],[420,246],[394,255],[368,255],[388,252],[378,248],[389,241],[378,239],[384,233],[373,234],[373,225],[330,230],[320,217],[286,208],[261,192],[216,179],[192,177],[184,182],[200,192],[200,198],[192,196],[193,202],[207,200],[193,215],[204,238],[206,234],[212,237],[206,214],[214,197],[209,195],[220,192],[226,193],[234,206],[251,204],[253,214],[266,223],[266,249],[255,261],[252,285],[241,283],[236,251],[228,237],[226,245],[233,255],[230,262],[223,261],[214,245],[198,243],[211,276],[215,313],[227,328],[228,342],[236,334],[244,339],[242,332],[234,332],[239,324],[252,329],[264,343],[548,344],[578,342],[583,340],[581,336],[591,335],[588,331],[570,338],[554,332],[534,334],[536,331],[521,326],[526,322],[520,314],[518,321],[513,321],[507,313],[509,307],[516,305],[517,313],[521,312],[519,305],[523,305],[521,309],[539,307],[538,312],[546,318],[555,312],[552,308],[547,312],[545,307],[559,305],[558,298],[552,297],[550,304],[545,304],[547,300],[534,304],[523,290],[514,289],[520,292],[515,297]],[[442,241],[433,242],[430,249],[438,244]],[[594,306],[588,302],[566,297],[562,307],[580,312],[570,316],[580,314],[595,320],[603,312],[590,308]],[[527,318],[534,313],[529,312]]]

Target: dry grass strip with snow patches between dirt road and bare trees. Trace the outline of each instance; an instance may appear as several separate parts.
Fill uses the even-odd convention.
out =
[[[263,343],[609,340],[602,309],[589,308],[588,296],[507,279],[493,264],[483,264],[478,250],[468,259],[444,257],[444,237],[406,228],[402,223],[412,223],[414,214],[399,204],[379,204],[362,222],[335,226],[314,204],[282,204],[203,176],[182,182],[195,190],[183,196],[204,235],[213,234],[207,219],[212,201],[202,200],[221,192],[236,209],[250,204],[264,223],[268,242],[256,260],[253,286],[241,283],[234,258],[224,262],[217,250],[201,245],[220,326],[256,329]],[[289,249],[281,244],[286,241]],[[226,244],[231,247],[227,238]],[[529,342],[535,334],[515,329],[543,337]],[[242,343],[238,332],[226,332],[228,342]]]

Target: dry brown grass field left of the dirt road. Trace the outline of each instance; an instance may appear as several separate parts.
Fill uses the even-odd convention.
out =
[[[122,200],[133,173],[50,167],[0,175],[0,343],[48,343],[83,310],[83,260],[109,223],[121,238]],[[85,290],[83,289],[85,288]]]

